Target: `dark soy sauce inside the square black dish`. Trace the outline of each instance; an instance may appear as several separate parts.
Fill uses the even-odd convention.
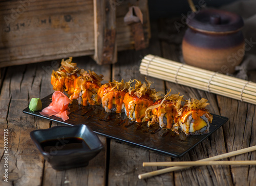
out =
[[[40,145],[44,151],[49,153],[57,153],[58,150],[90,150],[88,144],[82,138],[77,137],[46,140]]]

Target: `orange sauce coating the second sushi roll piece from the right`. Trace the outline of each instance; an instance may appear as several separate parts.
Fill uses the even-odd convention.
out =
[[[156,101],[154,104],[159,104],[161,103],[162,99]],[[178,122],[178,117],[177,117],[177,111],[175,110],[174,107],[174,102],[170,100],[165,100],[160,107],[155,108],[153,111],[153,114],[157,115],[159,118],[162,114],[166,114],[166,119],[167,119],[167,125],[166,128],[172,128],[173,123]]]

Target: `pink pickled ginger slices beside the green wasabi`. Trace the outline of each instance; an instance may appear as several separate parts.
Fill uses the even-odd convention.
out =
[[[60,91],[55,91],[52,94],[52,102],[48,107],[40,112],[43,116],[56,116],[61,118],[63,121],[69,119],[69,105],[70,99]]]

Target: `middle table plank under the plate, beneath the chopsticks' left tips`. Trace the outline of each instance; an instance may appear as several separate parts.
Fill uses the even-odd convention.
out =
[[[155,37],[151,40],[151,47],[141,51],[119,52],[118,63],[113,67],[113,79],[124,81],[137,78],[144,81],[144,75],[139,73],[139,64],[146,54],[160,55],[160,45],[157,39],[157,24],[152,24],[152,32]],[[153,81],[153,87],[158,91],[165,91],[164,82],[160,79],[147,77]],[[148,143],[153,143],[148,139]],[[170,161],[171,158],[155,152],[127,145],[111,140],[110,144],[110,168],[109,185],[165,185],[173,183],[172,173],[155,177],[151,181],[139,180],[138,174],[146,171],[157,170],[157,167],[142,167],[144,161]],[[171,176],[170,176],[171,175]]]

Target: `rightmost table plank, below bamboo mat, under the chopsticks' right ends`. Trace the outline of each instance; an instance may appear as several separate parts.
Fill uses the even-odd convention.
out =
[[[255,145],[255,105],[223,96],[217,96],[221,114],[229,118],[223,126],[228,152]],[[255,151],[230,157],[230,160],[255,160]],[[230,166],[233,182],[236,185],[254,185],[254,166]],[[255,173],[255,172],[254,172]]]

